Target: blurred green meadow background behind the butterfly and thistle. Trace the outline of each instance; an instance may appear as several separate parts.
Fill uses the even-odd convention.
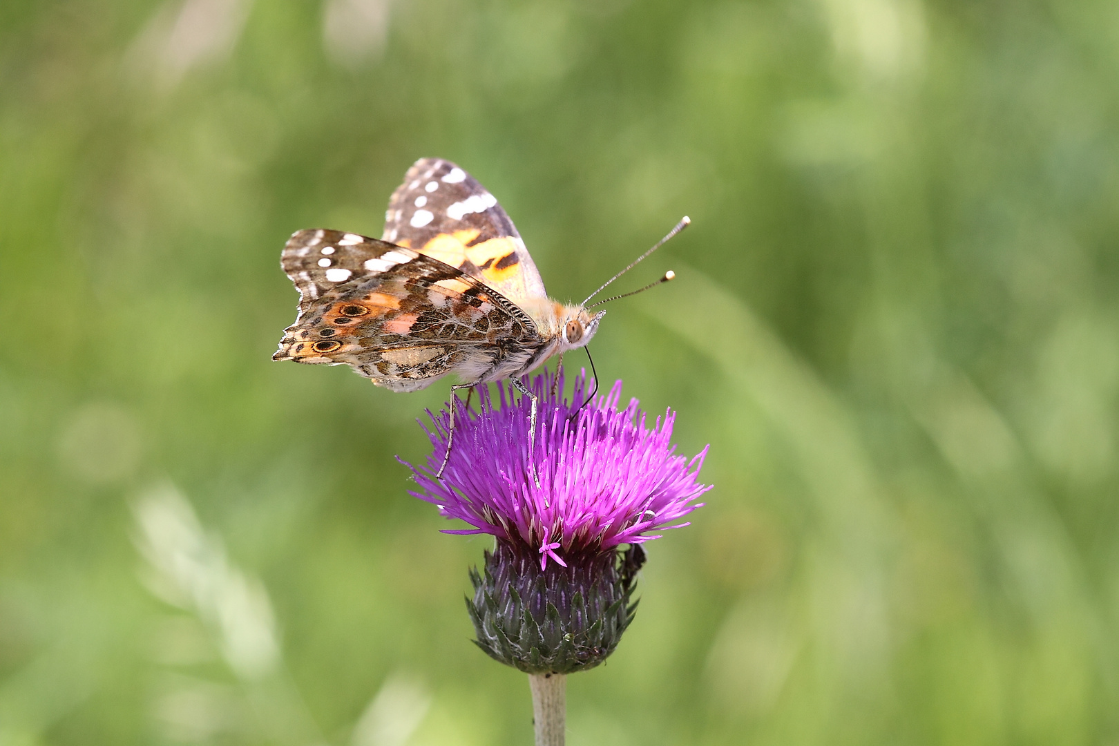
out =
[[[0,744],[527,744],[288,235],[452,159],[716,489],[570,743],[1119,743],[1111,0],[0,4]],[[572,356],[568,365],[582,363]]]

